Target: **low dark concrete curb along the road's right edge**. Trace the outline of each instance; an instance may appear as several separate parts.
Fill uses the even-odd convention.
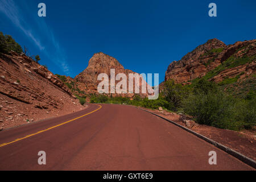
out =
[[[135,106],[133,106],[133,107],[135,107]],[[141,108],[139,108],[139,107],[135,107],[135,108],[141,109]],[[251,158],[248,158],[247,156],[242,155],[242,154],[240,154],[239,152],[234,151],[234,150],[232,150],[231,148],[228,148],[228,147],[226,147],[226,146],[224,146],[224,145],[222,145],[222,144],[220,144],[220,143],[218,143],[218,142],[215,142],[215,141],[212,140],[212,139],[209,139],[209,138],[207,138],[207,137],[204,137],[203,135],[201,135],[201,134],[199,134],[199,133],[196,133],[195,131],[192,131],[192,130],[188,129],[187,127],[184,127],[184,126],[182,126],[182,125],[179,125],[178,123],[176,123],[176,122],[174,122],[174,121],[171,121],[171,120],[169,120],[169,119],[166,119],[166,118],[164,118],[164,117],[162,117],[162,116],[160,116],[160,115],[158,115],[158,114],[152,113],[151,111],[148,111],[148,110],[145,110],[145,109],[141,109],[141,110],[144,110],[144,111],[146,111],[146,112],[148,112],[148,113],[154,114],[154,115],[156,115],[157,117],[162,118],[162,119],[164,119],[164,120],[166,120],[166,121],[168,121],[168,122],[170,122],[170,123],[172,123],[172,124],[174,124],[174,125],[180,127],[181,129],[188,131],[189,133],[191,133],[191,134],[193,134],[193,135],[196,135],[196,137],[199,137],[199,138],[205,140],[206,142],[208,142],[208,143],[210,143],[210,144],[213,144],[215,147],[220,148],[222,151],[225,151],[226,153],[228,153],[228,154],[234,156],[235,158],[241,160],[243,163],[246,163],[246,164],[248,164],[249,166],[251,166],[251,167],[253,167],[254,169],[256,169],[256,162],[255,162],[255,160],[253,160],[253,159],[251,159]]]

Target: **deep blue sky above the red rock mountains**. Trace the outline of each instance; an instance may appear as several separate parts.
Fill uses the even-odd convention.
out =
[[[38,4],[46,3],[46,17]],[[208,5],[217,5],[217,17]],[[0,31],[12,35],[40,64],[75,77],[96,52],[126,69],[159,73],[217,38],[225,44],[255,39],[256,1],[57,1],[0,0]]]

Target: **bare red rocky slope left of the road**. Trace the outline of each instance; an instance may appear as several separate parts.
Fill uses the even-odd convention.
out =
[[[3,128],[83,108],[57,76],[15,52],[0,53],[0,105]]]

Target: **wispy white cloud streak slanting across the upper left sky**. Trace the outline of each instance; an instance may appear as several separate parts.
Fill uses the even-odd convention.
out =
[[[57,42],[55,39],[51,28],[48,27],[42,18],[39,21],[38,17],[34,16],[34,19],[32,19],[34,21],[34,26],[30,27],[24,20],[23,14],[23,12],[28,11],[20,11],[18,5],[16,5],[13,0],[0,0],[0,12],[5,14],[16,27],[18,27],[29,39],[31,39],[32,42],[34,42],[35,45],[40,49],[40,51],[43,51],[49,60],[54,60],[54,63],[60,67],[63,72],[68,74],[70,73],[70,69],[66,61],[67,58],[63,49],[60,48],[59,42]],[[36,24],[37,28],[35,26]],[[47,46],[43,46],[42,41],[40,41],[38,36],[35,36],[38,34],[41,34],[42,37],[47,38],[47,44],[51,45],[49,48],[47,48]],[[46,42],[46,40],[44,41]]]

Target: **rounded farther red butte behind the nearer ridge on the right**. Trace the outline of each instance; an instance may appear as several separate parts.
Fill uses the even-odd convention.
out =
[[[167,68],[165,81],[173,79],[175,82],[181,83],[203,76],[221,63],[221,58],[224,55],[221,49],[227,47],[218,39],[208,40],[207,43],[187,53],[181,60],[173,61]],[[221,52],[214,52],[214,50]]]

